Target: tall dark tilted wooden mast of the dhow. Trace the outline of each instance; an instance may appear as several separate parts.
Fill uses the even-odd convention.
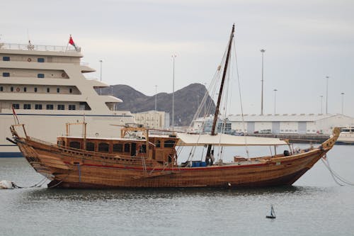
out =
[[[212,121],[211,135],[217,134],[215,132],[215,128],[217,126],[217,118],[219,116],[219,108],[220,108],[220,103],[221,103],[221,99],[222,99],[222,90],[224,89],[224,81],[225,81],[225,77],[226,77],[227,66],[229,65],[232,40],[234,38],[234,30],[235,30],[235,24],[232,26],[232,31],[231,31],[231,35],[230,35],[230,39],[229,39],[229,47],[227,48],[227,56],[226,56],[225,65],[224,65],[224,72],[222,73],[222,82],[221,82],[220,89],[219,89],[219,96],[217,98],[217,107],[215,108],[214,120]],[[210,157],[211,150],[212,150],[212,145],[207,145],[207,158]]]

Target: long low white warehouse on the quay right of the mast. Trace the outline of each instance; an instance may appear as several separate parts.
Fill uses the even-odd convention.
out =
[[[245,133],[331,134],[334,127],[354,124],[354,118],[341,114],[241,115],[227,117],[232,130]]]

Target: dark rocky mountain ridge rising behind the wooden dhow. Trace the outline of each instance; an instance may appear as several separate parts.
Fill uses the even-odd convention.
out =
[[[189,125],[193,119],[197,108],[207,90],[202,84],[190,84],[183,89],[175,91],[175,125]],[[117,84],[102,89],[102,94],[112,94],[122,99],[122,103],[118,103],[118,110],[131,111],[138,113],[142,111],[153,111],[155,109],[155,95],[146,96],[141,92],[124,84]],[[210,112],[215,113],[215,103],[210,96],[207,97],[207,104],[212,103]],[[170,123],[172,120],[172,93],[157,94],[157,110],[170,113]],[[202,110],[204,114],[204,110]]]

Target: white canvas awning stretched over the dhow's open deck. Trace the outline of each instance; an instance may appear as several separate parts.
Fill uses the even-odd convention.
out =
[[[252,137],[234,136],[218,133],[217,135],[199,135],[178,133],[178,146],[202,146],[202,145],[222,145],[222,146],[261,146],[261,145],[287,145],[287,142],[273,137]]]

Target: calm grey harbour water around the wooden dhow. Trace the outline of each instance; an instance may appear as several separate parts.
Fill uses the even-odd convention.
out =
[[[354,182],[354,147],[331,167]],[[0,180],[42,176],[23,158],[0,159]],[[265,218],[273,204],[277,218]],[[354,235],[354,186],[320,161],[294,186],[264,189],[0,190],[0,235]]]

